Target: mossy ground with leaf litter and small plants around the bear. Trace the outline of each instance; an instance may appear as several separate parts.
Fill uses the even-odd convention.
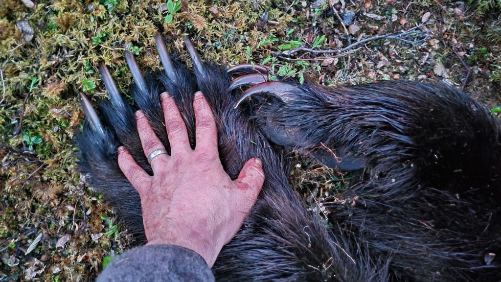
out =
[[[265,63],[275,74],[323,84],[443,80],[496,107],[500,8],[498,0],[0,2],[0,280],[91,280],[133,244],[75,165],[73,137],[83,122],[77,93],[107,97],[99,62],[127,94],[124,50],[144,70],[160,69],[160,31],[188,65],[184,35],[204,59],[222,64]],[[418,24],[429,35],[420,46],[382,39],[343,54],[277,53],[340,49]],[[294,164],[298,195],[320,214],[322,202],[349,185],[349,175],[312,160]]]

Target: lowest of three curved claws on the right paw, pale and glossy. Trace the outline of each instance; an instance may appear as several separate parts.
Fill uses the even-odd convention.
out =
[[[273,95],[281,99],[283,102],[287,103],[293,99],[293,93],[295,92],[297,93],[299,91],[301,91],[301,89],[299,89],[297,86],[294,86],[286,82],[282,81],[263,82],[245,90],[245,92],[243,92],[240,95],[240,97],[238,97],[238,100],[236,101],[234,108],[236,109],[238,105],[240,105],[240,103],[246,98],[254,94],[260,94],[260,93],[267,93]]]

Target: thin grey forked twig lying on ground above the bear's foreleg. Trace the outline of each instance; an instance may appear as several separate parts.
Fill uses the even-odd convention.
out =
[[[350,51],[352,48],[357,47],[359,45],[365,44],[367,42],[379,40],[379,39],[400,40],[400,41],[403,41],[403,42],[411,44],[411,45],[423,46],[423,43],[426,42],[430,38],[430,36],[429,36],[429,32],[415,31],[416,29],[418,29],[422,26],[424,26],[424,25],[415,26],[415,27],[413,27],[405,32],[399,33],[399,34],[393,33],[393,34],[384,34],[384,35],[377,35],[377,36],[369,37],[366,39],[362,39],[358,42],[355,42],[353,44],[350,44],[350,45],[346,46],[345,48],[341,48],[341,49],[314,50],[314,49],[306,48],[304,46],[300,46],[300,47],[292,49],[292,50],[273,52],[272,55],[275,57],[291,56],[291,55],[294,55],[300,51],[309,52],[313,55],[339,54],[339,53],[344,53],[344,52]]]

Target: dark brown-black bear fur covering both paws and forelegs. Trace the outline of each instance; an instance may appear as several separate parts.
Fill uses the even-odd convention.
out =
[[[125,145],[151,173],[133,110],[143,109],[168,148],[158,98],[164,90],[194,146],[192,98],[200,90],[212,106],[226,172],[235,179],[246,160],[259,157],[266,175],[252,213],[218,256],[217,281],[501,279],[499,258],[484,261],[501,251],[499,124],[468,95],[416,82],[329,88],[289,80],[300,90],[291,101],[255,99],[234,109],[237,95],[224,68],[198,65],[193,76],[174,66],[175,81],[147,75],[146,91],[132,87],[136,105],[102,102],[106,128],[87,123],[77,136],[82,172],[139,243],[140,200],[118,168],[116,149]],[[268,138],[294,140],[284,132],[302,139],[279,145],[313,150],[328,163],[322,143],[363,164],[361,182],[340,195],[345,204],[329,206],[331,228],[288,184],[289,149]]]

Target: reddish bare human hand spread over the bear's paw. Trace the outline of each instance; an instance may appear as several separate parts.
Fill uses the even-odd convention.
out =
[[[256,202],[265,180],[261,161],[248,160],[232,181],[219,160],[216,125],[203,94],[195,93],[193,100],[195,150],[174,100],[167,92],[160,97],[171,156],[151,160],[153,176],[136,164],[125,147],[118,149],[118,164],[141,198],[147,244],[189,248],[212,267]],[[142,111],[136,112],[136,124],[146,156],[165,149]]]

